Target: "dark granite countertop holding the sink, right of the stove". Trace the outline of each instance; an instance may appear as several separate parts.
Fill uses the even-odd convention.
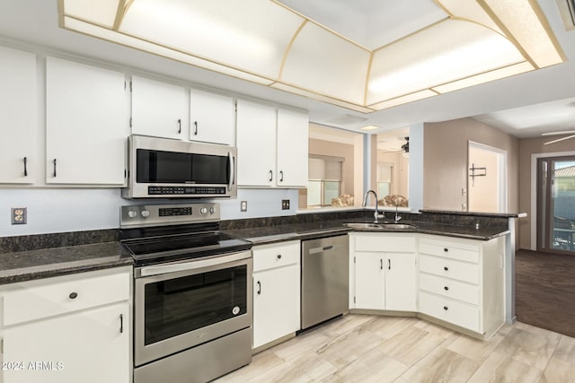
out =
[[[351,229],[343,225],[346,222],[371,222],[365,219],[341,220],[330,222],[303,222],[291,223],[285,225],[262,226],[249,229],[238,229],[226,231],[227,233],[250,240],[254,245],[262,245],[274,242],[280,242],[291,239],[316,239],[322,237],[331,237],[333,235],[346,234],[349,231],[371,231],[371,232],[418,232],[425,234],[443,235],[447,237],[456,237],[464,239],[489,240],[506,235],[509,231],[502,231],[500,228],[490,226],[462,226],[451,225],[437,222],[415,222],[401,221],[400,223],[409,224],[410,229]],[[390,222],[390,221],[382,221]],[[392,221],[393,222],[393,221]]]

